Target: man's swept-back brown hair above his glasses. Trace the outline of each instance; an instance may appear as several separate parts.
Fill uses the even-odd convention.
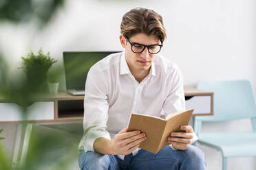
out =
[[[121,34],[130,38],[135,34],[153,35],[164,41],[167,37],[162,16],[146,8],[134,8],[122,16]]]

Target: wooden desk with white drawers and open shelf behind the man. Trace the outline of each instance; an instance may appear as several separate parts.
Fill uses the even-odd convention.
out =
[[[213,114],[213,93],[196,88],[184,88],[186,109],[195,109],[193,115]],[[32,122],[83,121],[84,96],[73,96],[66,92],[56,95],[36,95],[36,102],[28,108]],[[0,123],[19,123],[24,119],[17,104],[0,97]]]

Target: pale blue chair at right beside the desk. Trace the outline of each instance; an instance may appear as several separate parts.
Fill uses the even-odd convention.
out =
[[[194,130],[198,143],[213,147],[222,153],[222,169],[227,169],[228,157],[256,156],[256,104],[250,82],[247,80],[199,82],[198,89],[214,93],[214,115],[195,117]],[[202,122],[250,119],[250,132],[202,133]]]

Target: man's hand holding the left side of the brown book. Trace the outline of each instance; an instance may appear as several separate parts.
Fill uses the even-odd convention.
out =
[[[142,141],[145,141],[146,136],[140,131],[127,132],[128,128],[125,128],[118,132],[111,140],[113,154],[127,155],[140,146]]]

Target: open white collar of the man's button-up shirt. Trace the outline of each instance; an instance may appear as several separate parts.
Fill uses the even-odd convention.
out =
[[[120,58],[120,75],[124,75],[124,74],[131,74],[129,66],[125,60],[125,52],[122,53],[122,56]],[[156,76],[156,67],[155,67],[154,61],[151,64],[149,75]]]

